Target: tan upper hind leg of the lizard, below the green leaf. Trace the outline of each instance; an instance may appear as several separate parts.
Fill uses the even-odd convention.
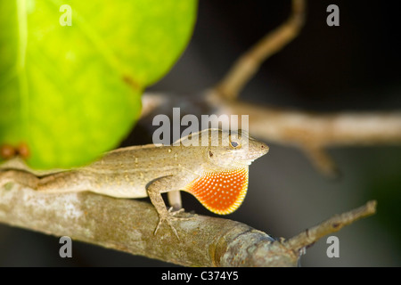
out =
[[[48,193],[89,191],[90,183],[78,171],[66,171],[40,178],[37,191]]]

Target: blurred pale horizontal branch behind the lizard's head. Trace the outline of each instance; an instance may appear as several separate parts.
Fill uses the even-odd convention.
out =
[[[312,113],[207,96],[217,113],[250,115],[250,133],[272,142],[307,148],[401,143],[400,111]]]

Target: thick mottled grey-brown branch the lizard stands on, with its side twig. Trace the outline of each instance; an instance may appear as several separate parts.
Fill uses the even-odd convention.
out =
[[[185,266],[297,266],[300,247],[364,216],[356,210],[333,217],[331,227],[325,222],[307,238],[301,234],[288,241],[231,220],[194,216],[175,223],[177,240],[168,226],[153,235],[159,217],[150,203],[90,192],[43,193],[2,174],[0,185],[7,184],[0,187],[1,223]]]

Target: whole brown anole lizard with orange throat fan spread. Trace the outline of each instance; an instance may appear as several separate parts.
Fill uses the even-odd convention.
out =
[[[201,140],[205,134],[209,135],[206,143]],[[171,221],[179,217],[166,208],[161,193],[187,191],[210,211],[230,214],[245,197],[250,163],[268,150],[265,143],[245,132],[233,135],[207,129],[172,146],[147,144],[110,151],[88,166],[70,170],[40,173],[5,163],[0,167],[0,182],[29,184],[47,192],[93,191],[116,198],[149,196],[160,219],[155,233],[163,222],[176,233]]]

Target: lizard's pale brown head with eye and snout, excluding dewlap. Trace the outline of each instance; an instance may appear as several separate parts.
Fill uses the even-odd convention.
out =
[[[258,142],[243,131],[229,132],[209,129],[209,146],[206,156],[216,167],[241,167],[265,155],[269,151],[264,142]]]

